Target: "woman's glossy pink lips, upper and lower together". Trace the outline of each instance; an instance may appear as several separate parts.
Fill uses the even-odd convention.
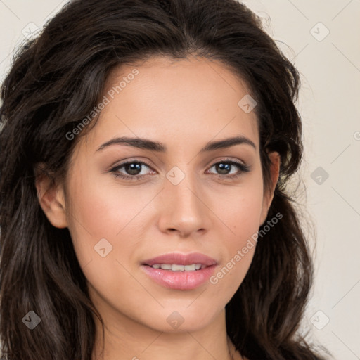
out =
[[[207,267],[195,271],[171,271],[163,269],[153,269],[153,264],[178,264],[191,265],[203,264]],[[183,255],[179,253],[165,254],[153,259],[148,259],[141,264],[141,269],[145,271],[156,283],[174,290],[193,290],[203,285],[214,273],[217,262],[206,255],[191,253]]]

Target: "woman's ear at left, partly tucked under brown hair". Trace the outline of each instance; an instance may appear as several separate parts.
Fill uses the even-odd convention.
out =
[[[66,228],[68,227],[68,220],[63,185],[57,184],[56,179],[44,171],[45,168],[44,164],[41,163],[36,171],[35,186],[39,204],[53,226],[60,229]]]

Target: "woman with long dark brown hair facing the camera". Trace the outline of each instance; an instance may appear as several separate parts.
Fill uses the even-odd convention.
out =
[[[4,359],[321,359],[299,83],[235,0],[65,6],[1,89]]]

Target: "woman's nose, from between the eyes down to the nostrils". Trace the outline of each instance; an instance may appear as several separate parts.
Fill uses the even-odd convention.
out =
[[[159,228],[164,233],[178,233],[181,238],[198,236],[210,229],[211,211],[205,190],[194,175],[185,174],[179,184],[165,179],[160,193]]]

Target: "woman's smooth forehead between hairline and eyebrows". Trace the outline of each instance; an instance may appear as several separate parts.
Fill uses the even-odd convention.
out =
[[[203,144],[243,134],[258,144],[255,112],[245,113],[238,105],[248,93],[240,77],[206,58],[158,57],[121,65],[105,83],[107,105],[88,140],[124,135]]]

